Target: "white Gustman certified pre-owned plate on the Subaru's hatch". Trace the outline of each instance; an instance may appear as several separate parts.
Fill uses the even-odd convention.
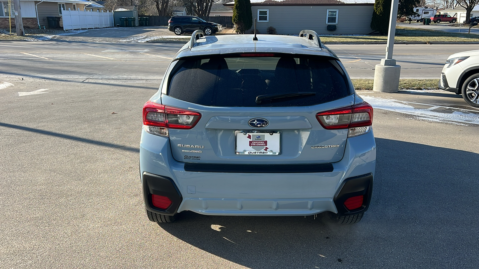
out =
[[[236,131],[236,154],[279,155],[280,131]]]

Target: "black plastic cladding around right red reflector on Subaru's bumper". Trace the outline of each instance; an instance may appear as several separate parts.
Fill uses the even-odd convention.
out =
[[[334,204],[340,215],[350,215],[362,213],[367,210],[371,202],[371,193],[373,191],[373,174],[365,174],[353,178],[345,179],[339,190],[334,195]],[[364,195],[363,205],[360,208],[348,210],[344,202],[351,197]]]

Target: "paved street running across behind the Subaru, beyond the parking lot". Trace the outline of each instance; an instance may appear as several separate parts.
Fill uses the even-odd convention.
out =
[[[0,78],[161,79],[182,46],[51,41],[18,45],[0,43]],[[386,54],[386,45],[329,47],[341,58],[351,78],[374,78],[374,67]],[[438,79],[449,55],[473,49],[477,45],[395,45],[394,57],[401,65],[401,78]]]

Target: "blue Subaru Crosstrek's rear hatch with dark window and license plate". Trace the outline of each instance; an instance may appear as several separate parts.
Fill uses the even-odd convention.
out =
[[[186,126],[168,128],[173,157],[217,164],[337,162],[353,113],[348,85],[330,58],[180,60],[161,96],[168,122]]]

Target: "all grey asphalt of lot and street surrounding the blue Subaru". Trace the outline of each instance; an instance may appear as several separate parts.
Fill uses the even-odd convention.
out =
[[[359,92],[375,107],[377,168],[357,225],[188,212],[149,222],[141,108],[179,46],[0,43],[1,269],[477,268],[479,110],[444,91]],[[385,45],[330,47],[369,78]],[[470,49],[395,45],[395,57],[403,78],[437,78]]]

